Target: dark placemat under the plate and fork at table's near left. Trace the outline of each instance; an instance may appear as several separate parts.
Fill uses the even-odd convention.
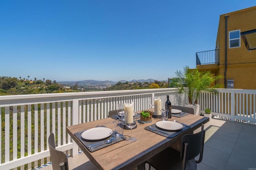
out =
[[[100,141],[85,141],[85,140],[83,140],[82,137],[81,137],[82,132],[77,132],[77,133],[75,133],[74,135],[75,135],[75,136],[77,137],[77,139],[86,147],[86,149],[88,149],[90,152],[94,152],[94,151],[96,151],[96,150],[100,150],[100,149],[102,149],[102,148],[108,147],[108,146],[110,146],[110,145],[113,145],[113,144],[118,143],[118,142],[120,142],[120,141],[124,141],[124,140],[126,139],[125,137],[116,138],[116,139],[114,139],[111,143],[104,144],[104,145],[101,145],[101,146],[99,146],[99,147],[90,149],[90,148],[88,148],[89,145],[92,145],[92,144],[94,144],[94,143],[98,143],[98,142],[100,142]],[[114,132],[112,133],[112,135],[111,135],[109,138],[104,139],[104,140],[102,140],[102,141],[107,141],[108,139],[111,139],[112,137],[114,137]]]

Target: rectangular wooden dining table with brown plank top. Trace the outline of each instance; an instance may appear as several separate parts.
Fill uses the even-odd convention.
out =
[[[140,118],[138,118],[139,120]],[[136,168],[138,170],[145,169],[144,162],[152,156],[158,154],[162,150],[175,144],[180,143],[180,139],[185,134],[193,133],[194,130],[201,127],[201,125],[209,121],[208,117],[189,114],[184,117],[173,117],[168,121],[178,121],[190,125],[190,129],[180,133],[174,138],[166,138],[151,131],[144,129],[145,127],[160,121],[160,119],[153,118],[151,123],[140,124],[137,123],[136,129],[132,129],[132,137],[137,140],[133,143],[128,141],[120,141],[108,147],[105,147],[94,152],[89,152],[86,147],[78,140],[74,133],[91,129],[97,126],[104,125],[114,130],[113,121],[111,117],[100,119],[78,125],[66,127],[68,134],[77,143],[78,147],[86,154],[89,160],[99,170],[131,170]],[[130,136],[131,131],[124,129],[124,135]]]

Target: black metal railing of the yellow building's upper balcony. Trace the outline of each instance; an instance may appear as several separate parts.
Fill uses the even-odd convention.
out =
[[[218,64],[219,50],[202,51],[196,53],[196,65]]]

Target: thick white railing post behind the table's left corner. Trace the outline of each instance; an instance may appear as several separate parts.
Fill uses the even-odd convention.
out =
[[[71,110],[71,117],[72,117],[72,125],[77,125],[79,123],[79,99],[73,99],[72,102],[72,110]],[[78,156],[78,145],[76,144],[75,141],[73,141],[73,149],[71,152],[71,156]]]

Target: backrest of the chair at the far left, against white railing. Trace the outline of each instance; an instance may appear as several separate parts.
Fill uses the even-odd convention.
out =
[[[55,149],[55,139],[53,133],[51,133],[48,137],[48,144],[52,159],[52,169],[68,170],[68,157],[64,152]]]

